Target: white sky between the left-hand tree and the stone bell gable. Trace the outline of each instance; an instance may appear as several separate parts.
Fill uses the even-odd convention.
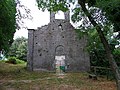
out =
[[[42,12],[38,9],[37,4],[35,0],[21,0],[21,3],[27,8],[31,10],[31,16],[33,17],[32,20],[24,20],[25,26],[27,26],[29,29],[36,29],[37,27],[41,27],[43,25],[46,25],[49,23],[49,12]],[[28,37],[28,31],[27,29],[20,29],[17,30],[14,34],[14,39],[18,37]]]

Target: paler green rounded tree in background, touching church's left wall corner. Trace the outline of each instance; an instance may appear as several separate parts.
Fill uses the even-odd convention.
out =
[[[10,57],[16,57],[20,60],[26,61],[27,60],[27,39],[24,37],[15,39],[7,55]]]

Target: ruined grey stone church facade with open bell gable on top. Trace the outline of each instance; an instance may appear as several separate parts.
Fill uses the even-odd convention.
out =
[[[70,23],[69,12],[65,19],[55,19],[38,29],[28,29],[28,69],[55,71],[55,56],[65,56],[66,71],[88,71],[89,55],[84,50],[87,40],[79,39]]]

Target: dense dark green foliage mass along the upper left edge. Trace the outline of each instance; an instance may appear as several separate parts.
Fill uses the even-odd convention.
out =
[[[15,33],[16,5],[14,0],[0,0],[0,51],[7,50]]]

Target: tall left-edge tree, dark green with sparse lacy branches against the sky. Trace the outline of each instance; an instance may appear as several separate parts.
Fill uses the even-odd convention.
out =
[[[20,8],[25,13],[22,13]],[[25,27],[23,19],[26,18],[32,19],[32,16],[20,0],[0,0],[0,51],[8,51],[16,29]]]

